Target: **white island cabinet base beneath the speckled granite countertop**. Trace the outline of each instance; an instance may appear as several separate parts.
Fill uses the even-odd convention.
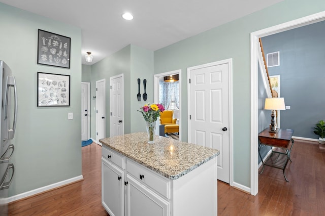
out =
[[[215,216],[216,158],[171,180],[103,145],[102,204],[111,216]]]

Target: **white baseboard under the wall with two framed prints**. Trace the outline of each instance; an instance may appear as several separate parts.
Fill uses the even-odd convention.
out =
[[[7,201],[8,201],[8,203],[13,202],[13,201],[16,201],[16,200],[19,200],[19,199],[26,198],[28,196],[36,195],[36,194],[39,194],[39,193],[42,193],[42,192],[45,192],[45,191],[60,187],[60,186],[64,186],[64,185],[67,185],[67,184],[70,184],[70,183],[73,183],[73,182],[77,182],[77,181],[82,180],[82,179],[83,179],[83,176],[80,175],[80,176],[77,176],[77,177],[74,177],[74,178],[71,178],[71,179],[67,179],[67,180],[64,180],[64,181],[61,181],[61,182],[57,182],[57,183],[54,183],[54,184],[51,184],[51,185],[47,185],[47,186],[44,186],[44,187],[41,187],[41,188],[37,188],[37,189],[31,190],[31,191],[27,191],[27,192],[24,192],[24,193],[21,193],[21,194],[17,194],[15,196],[8,197]]]

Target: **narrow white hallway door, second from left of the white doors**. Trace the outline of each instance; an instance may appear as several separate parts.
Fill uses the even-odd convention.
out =
[[[105,79],[96,81],[96,141],[106,137]]]

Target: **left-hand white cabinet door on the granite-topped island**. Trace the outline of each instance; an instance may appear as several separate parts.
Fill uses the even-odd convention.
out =
[[[124,216],[124,172],[102,158],[102,205],[110,216]]]

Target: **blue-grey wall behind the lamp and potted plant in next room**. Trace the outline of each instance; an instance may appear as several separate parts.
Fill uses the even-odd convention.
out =
[[[281,127],[295,129],[294,136],[318,139],[314,124],[325,119],[325,22],[263,37],[265,54],[280,51],[281,97],[290,110],[281,111]]]

